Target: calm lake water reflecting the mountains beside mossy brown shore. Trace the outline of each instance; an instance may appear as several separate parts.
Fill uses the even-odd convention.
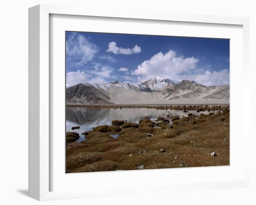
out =
[[[212,112],[212,111],[211,111]],[[100,125],[112,125],[113,120],[127,120],[128,122],[139,123],[141,118],[149,117],[150,120],[156,120],[161,116],[171,122],[171,117],[178,115],[188,116],[189,113],[199,115],[200,113],[208,114],[208,111],[196,112],[189,110],[183,112],[180,110],[160,110],[160,109],[147,109],[147,108],[124,108],[124,109],[111,109],[111,108],[83,108],[83,107],[67,107],[66,108],[66,131],[79,133],[80,138],[78,142],[84,141],[86,138],[81,135],[85,131],[92,130],[92,128]],[[167,115],[170,115],[167,117]],[[72,127],[79,126],[80,129],[72,130]],[[117,138],[118,135],[113,135]]]

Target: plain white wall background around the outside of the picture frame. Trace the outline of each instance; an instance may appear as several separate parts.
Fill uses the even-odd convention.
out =
[[[28,7],[37,4],[100,6],[108,9],[150,10],[250,18],[250,89],[255,93],[256,5],[253,0],[5,0],[0,3],[0,204],[40,202],[27,197],[28,166]],[[242,83],[242,82],[241,82]],[[256,114],[251,95],[250,122]],[[252,130],[252,129],[251,129]],[[251,135],[252,132],[251,132]],[[255,131],[254,131],[254,137]],[[203,192],[176,192],[166,195],[75,199],[44,204],[256,204],[256,140],[252,136],[251,188]],[[243,153],[241,153],[243,154]],[[86,185],[85,185],[86,186]]]

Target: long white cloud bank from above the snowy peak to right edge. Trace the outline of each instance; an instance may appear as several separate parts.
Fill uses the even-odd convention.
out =
[[[160,76],[175,81],[194,80],[206,86],[229,84],[229,70],[209,71],[208,67],[199,69],[196,67],[198,62],[197,58],[176,56],[176,52],[170,50],[145,60],[132,74],[138,75],[138,82]]]

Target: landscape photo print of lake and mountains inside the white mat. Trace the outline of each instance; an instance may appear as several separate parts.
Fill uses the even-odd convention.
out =
[[[229,166],[229,39],[65,43],[66,173]]]

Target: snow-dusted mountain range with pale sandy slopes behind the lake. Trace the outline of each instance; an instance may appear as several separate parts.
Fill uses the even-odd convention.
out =
[[[229,85],[154,77],[141,83],[79,83],[66,89],[67,104],[213,104],[229,103]]]

